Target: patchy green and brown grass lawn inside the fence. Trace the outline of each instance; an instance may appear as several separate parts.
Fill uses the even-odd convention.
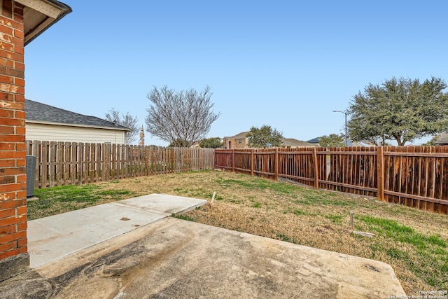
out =
[[[211,197],[216,191],[213,204]],[[392,265],[407,295],[448,290],[448,216],[231,172],[164,174],[35,191],[29,219],[151,193],[209,200],[179,216]],[[373,233],[364,237],[354,230]]]

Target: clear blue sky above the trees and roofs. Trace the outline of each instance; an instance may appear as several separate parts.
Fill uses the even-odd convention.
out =
[[[208,137],[270,125],[307,141],[342,133],[332,111],[369,83],[448,81],[447,1],[63,2],[73,12],[25,48],[26,97],[99,118],[144,125],[153,86],[209,85]]]

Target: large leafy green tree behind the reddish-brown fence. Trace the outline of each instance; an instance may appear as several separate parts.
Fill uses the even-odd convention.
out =
[[[352,141],[386,144],[408,141],[448,130],[447,84],[440,78],[392,78],[381,85],[370,83],[353,96],[348,123]]]

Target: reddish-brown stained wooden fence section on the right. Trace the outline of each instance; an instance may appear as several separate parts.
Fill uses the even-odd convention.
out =
[[[448,146],[216,150],[215,168],[448,214]]]

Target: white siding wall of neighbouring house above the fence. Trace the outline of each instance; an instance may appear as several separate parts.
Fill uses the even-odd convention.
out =
[[[92,127],[26,123],[27,140],[125,144],[126,132]]]

